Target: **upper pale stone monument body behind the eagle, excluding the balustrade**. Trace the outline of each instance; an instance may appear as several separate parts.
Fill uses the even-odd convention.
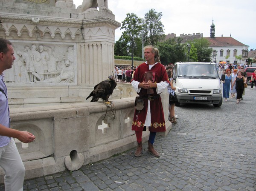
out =
[[[120,23],[107,0],[84,0],[78,9],[73,0],[0,4],[0,37],[13,43],[16,57],[5,74],[11,107],[21,106],[24,99],[82,102],[91,87],[112,73],[115,29]]]

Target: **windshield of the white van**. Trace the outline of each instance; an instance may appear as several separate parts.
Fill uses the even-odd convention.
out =
[[[219,78],[216,66],[213,64],[177,64],[177,77],[212,77]]]

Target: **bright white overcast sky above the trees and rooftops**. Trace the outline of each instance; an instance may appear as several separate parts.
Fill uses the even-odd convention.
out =
[[[77,6],[83,0],[73,0]],[[164,33],[193,34],[210,36],[212,18],[215,37],[231,37],[256,49],[256,0],[108,0],[108,8],[122,23],[127,13],[143,18],[151,9],[162,12]],[[253,19],[254,18],[254,19]],[[116,29],[119,40],[122,31]]]

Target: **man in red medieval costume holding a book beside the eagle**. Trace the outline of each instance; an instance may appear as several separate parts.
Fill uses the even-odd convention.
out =
[[[160,93],[167,88],[169,80],[165,67],[160,63],[158,49],[153,46],[145,46],[144,55],[146,62],[138,66],[131,82],[144,102],[144,108],[134,112],[132,130],[135,131],[138,142],[134,155],[135,157],[141,156],[142,131],[148,127],[150,131],[148,152],[159,157],[160,154],[154,149],[153,143],[157,132],[166,131]]]

